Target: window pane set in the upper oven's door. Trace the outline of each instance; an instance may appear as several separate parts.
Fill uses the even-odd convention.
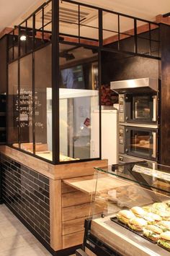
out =
[[[133,106],[135,119],[151,119],[150,96],[134,96]]]

